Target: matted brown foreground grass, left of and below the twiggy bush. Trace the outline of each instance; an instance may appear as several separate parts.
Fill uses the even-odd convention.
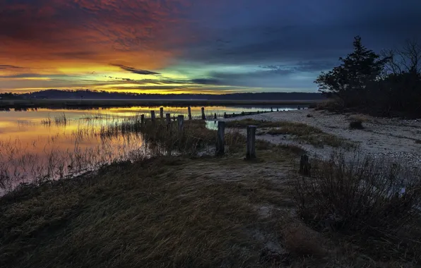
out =
[[[289,210],[294,203],[285,181],[297,156],[290,152],[300,148],[265,146],[258,150],[259,162],[245,162],[239,147],[225,157],[120,162],[91,176],[23,185],[0,198],[1,264],[411,267],[409,244],[383,237],[388,245],[373,238],[366,245],[357,239],[360,229],[335,237],[305,226]],[[417,237],[413,230],[412,239]],[[390,260],[376,252],[387,252]]]

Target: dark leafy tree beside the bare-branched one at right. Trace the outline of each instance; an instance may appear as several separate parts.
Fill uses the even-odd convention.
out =
[[[339,58],[340,66],[328,73],[322,72],[314,81],[319,85],[319,92],[327,97],[338,97],[345,106],[364,104],[364,89],[380,79],[384,65],[389,61],[364,47],[360,36],[354,38],[353,45],[351,54]]]

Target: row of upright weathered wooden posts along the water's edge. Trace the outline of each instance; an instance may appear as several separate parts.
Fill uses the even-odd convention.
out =
[[[206,120],[205,108],[202,107],[202,120]],[[191,117],[191,107],[188,108],[189,120],[192,120]],[[160,118],[161,121],[164,119],[164,108],[160,108]],[[216,117],[215,117],[216,118]],[[165,114],[165,120],[167,127],[171,124],[171,114]],[[155,122],[155,111],[150,111],[150,121]],[[175,116],[174,116],[175,121]],[[184,128],[184,116],[177,116],[178,128],[179,131],[182,131]],[[145,123],[145,115],[141,114],[141,125]],[[225,154],[225,121],[218,121],[218,137],[216,142],[216,155]],[[256,158],[256,126],[247,126],[247,145],[246,145],[246,159],[255,159]]]

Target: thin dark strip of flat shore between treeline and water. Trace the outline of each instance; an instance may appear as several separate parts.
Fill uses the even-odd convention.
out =
[[[121,106],[310,105],[320,102],[324,102],[324,100],[4,99],[0,100],[0,109],[100,108]]]

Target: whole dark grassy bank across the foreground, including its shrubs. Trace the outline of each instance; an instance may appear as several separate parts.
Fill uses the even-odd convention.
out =
[[[237,140],[227,139],[229,153],[214,157],[203,149],[212,145],[210,136],[214,137],[215,132],[200,130],[201,123],[186,125],[184,137],[194,137],[192,141],[201,138],[202,146],[196,146],[197,142],[179,143],[177,132],[162,127],[159,123],[149,124],[147,131],[160,144],[174,137],[174,142],[162,145],[178,150],[179,156],[120,162],[74,179],[21,186],[1,197],[1,264],[4,267],[420,264],[420,232],[415,228],[417,213],[412,209],[419,205],[419,184],[411,183],[408,194],[397,198],[394,194],[381,194],[384,189],[396,190],[405,185],[396,176],[399,169],[395,166],[378,173],[371,160],[349,166],[335,159],[331,162],[314,159],[311,176],[303,177],[297,174],[297,158],[303,153],[297,147],[257,142],[258,159],[249,162],[244,161],[244,138],[235,135]],[[186,146],[177,147],[180,144]],[[189,150],[180,150],[186,147]],[[370,187],[359,187],[362,183]],[[373,197],[374,205],[370,203]],[[369,209],[360,213],[361,205]],[[404,206],[403,214],[389,213],[393,207]],[[364,225],[370,213],[387,217]],[[384,225],[385,222],[388,224]],[[361,232],[361,226],[369,228]]]

